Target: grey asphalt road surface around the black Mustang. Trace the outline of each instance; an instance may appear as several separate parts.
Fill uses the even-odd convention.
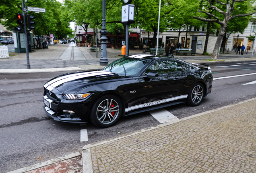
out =
[[[198,107],[180,104],[165,109],[184,118],[256,96],[256,62],[211,65],[213,89]],[[43,84],[64,72],[0,74],[0,172],[16,170],[81,151],[84,145],[160,124],[148,112],[121,117],[107,129],[87,123],[54,121],[43,111]],[[245,74],[245,76],[230,77]],[[247,75],[252,74],[252,75]],[[229,78],[220,78],[228,77]],[[246,84],[246,85],[244,85]],[[87,129],[88,141],[81,142]]]

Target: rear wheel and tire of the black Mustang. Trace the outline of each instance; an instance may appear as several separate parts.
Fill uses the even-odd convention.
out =
[[[204,86],[201,83],[196,83],[190,89],[186,104],[189,106],[198,106],[204,99]]]

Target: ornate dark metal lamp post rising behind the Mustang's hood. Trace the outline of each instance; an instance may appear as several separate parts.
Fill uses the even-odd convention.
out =
[[[101,33],[101,59],[99,60],[99,65],[106,66],[108,64],[107,60],[107,29],[106,29],[106,0],[102,0],[102,30]]]

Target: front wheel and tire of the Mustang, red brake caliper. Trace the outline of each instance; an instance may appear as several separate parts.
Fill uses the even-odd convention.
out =
[[[114,95],[99,98],[91,109],[90,120],[97,127],[111,127],[122,115],[122,103]]]

